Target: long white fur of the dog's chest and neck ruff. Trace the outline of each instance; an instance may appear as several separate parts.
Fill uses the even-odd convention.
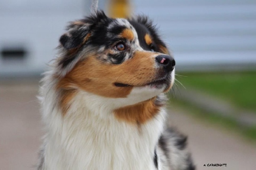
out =
[[[79,91],[63,116],[55,90],[57,80],[48,75],[43,81],[41,102],[47,135],[42,169],[155,169],[154,150],[163,130],[164,110],[146,123],[127,123],[114,117],[113,101]]]

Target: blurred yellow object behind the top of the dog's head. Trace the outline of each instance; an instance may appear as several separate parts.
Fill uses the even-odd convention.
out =
[[[130,0],[109,0],[109,16],[112,18],[128,18],[131,16]]]

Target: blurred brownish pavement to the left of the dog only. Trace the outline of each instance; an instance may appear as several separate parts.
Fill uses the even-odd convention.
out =
[[[0,86],[0,169],[32,170],[42,137],[37,83]]]

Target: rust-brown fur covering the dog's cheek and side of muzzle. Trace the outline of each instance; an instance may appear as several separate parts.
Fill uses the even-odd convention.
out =
[[[116,87],[114,83],[140,86],[150,82],[156,74],[152,55],[155,54],[138,51],[122,64],[107,64],[97,59],[97,56],[88,56],[62,79],[61,86],[75,86],[110,98],[125,98],[133,87]]]

